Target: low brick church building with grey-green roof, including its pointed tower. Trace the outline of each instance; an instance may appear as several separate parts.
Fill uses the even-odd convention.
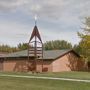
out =
[[[74,50],[43,50],[37,25],[31,34],[28,50],[0,56],[0,71],[4,72],[63,72],[83,68],[84,62]]]

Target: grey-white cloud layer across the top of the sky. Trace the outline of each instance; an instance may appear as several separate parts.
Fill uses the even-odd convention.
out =
[[[80,18],[90,15],[90,0],[0,0],[0,10],[23,12],[66,27],[79,27]]]

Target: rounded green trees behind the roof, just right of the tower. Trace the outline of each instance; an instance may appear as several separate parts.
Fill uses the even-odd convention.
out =
[[[60,49],[71,49],[71,43],[68,43],[65,40],[55,40],[55,41],[47,41],[44,43],[45,50],[60,50]]]

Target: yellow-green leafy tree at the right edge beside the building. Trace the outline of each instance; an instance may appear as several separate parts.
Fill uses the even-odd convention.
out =
[[[84,32],[78,32],[78,36],[81,38],[81,41],[78,45],[79,53],[86,60],[90,60],[90,17],[85,18],[85,28],[83,28]]]

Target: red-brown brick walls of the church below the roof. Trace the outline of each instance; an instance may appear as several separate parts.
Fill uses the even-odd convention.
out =
[[[8,72],[28,72],[29,67],[32,65],[32,60],[28,62],[28,59],[6,59],[0,62],[0,70]],[[55,60],[44,60],[43,70],[45,72],[62,72],[62,71],[78,71],[82,70],[84,62],[80,60],[74,53],[67,53]],[[42,71],[42,61],[37,61],[37,71]]]

